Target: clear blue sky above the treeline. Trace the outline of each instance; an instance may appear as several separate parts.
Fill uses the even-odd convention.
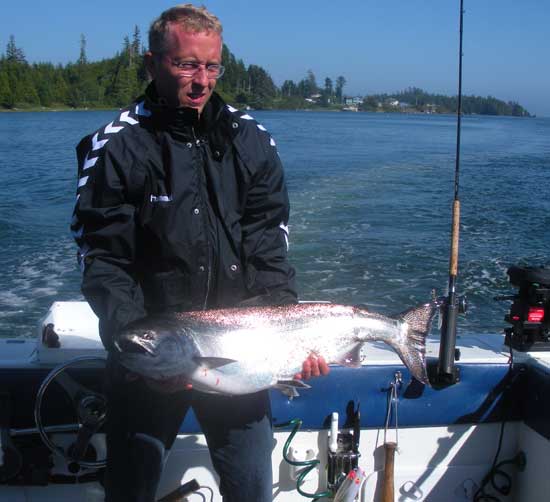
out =
[[[28,0],[3,2],[0,48],[11,34],[30,62],[112,56],[134,26],[175,2]],[[343,75],[347,94],[409,86],[456,94],[458,0],[204,0],[224,24],[224,39],[245,64],[259,64],[280,85],[311,69]],[[550,2],[465,0],[464,94],[518,101],[550,116]]]

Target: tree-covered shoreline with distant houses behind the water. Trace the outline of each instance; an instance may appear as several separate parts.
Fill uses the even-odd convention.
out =
[[[124,37],[122,48],[112,58],[88,61],[86,38],[81,35],[80,55],[66,65],[28,63],[15,37],[9,38],[0,56],[0,110],[120,108],[139,96],[148,83],[143,64],[139,28]],[[457,97],[430,94],[410,87],[393,94],[348,96],[346,79],[326,77],[318,84],[309,70],[299,82],[285,80],[278,87],[261,66],[245,65],[223,46],[225,74],[216,90],[228,102],[246,109],[311,109],[370,112],[453,113]],[[497,98],[463,96],[465,114],[529,117],[515,102]]]

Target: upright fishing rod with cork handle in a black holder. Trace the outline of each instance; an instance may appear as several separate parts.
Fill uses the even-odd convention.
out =
[[[456,320],[458,313],[466,310],[463,299],[459,299],[456,292],[458,276],[458,245],[460,229],[460,131],[462,119],[462,36],[464,24],[464,4],[460,0],[460,26],[458,51],[458,100],[457,100],[457,127],[456,127],[456,162],[454,180],[454,201],[451,224],[451,252],[449,258],[449,291],[442,308],[443,322],[441,325],[441,343],[439,345],[439,362],[437,366],[437,380],[443,384],[453,384],[458,380],[455,368],[456,352]]]

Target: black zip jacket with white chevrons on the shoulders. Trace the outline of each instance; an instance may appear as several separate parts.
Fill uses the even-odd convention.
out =
[[[249,115],[213,94],[199,120],[159,105],[151,84],[77,156],[71,230],[107,348],[155,311],[296,301],[283,169]]]

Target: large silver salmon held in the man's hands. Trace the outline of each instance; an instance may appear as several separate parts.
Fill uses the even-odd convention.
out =
[[[437,307],[433,301],[395,317],[328,303],[173,312],[129,325],[115,346],[123,366],[153,380],[185,376],[206,392],[275,387],[294,395],[309,387],[293,376],[310,354],[359,367],[362,345],[382,341],[427,384],[425,339]]]

